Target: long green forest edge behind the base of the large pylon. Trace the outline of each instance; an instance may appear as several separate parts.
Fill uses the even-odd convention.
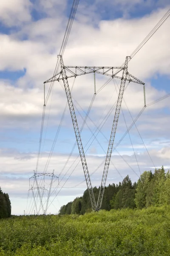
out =
[[[94,196],[97,200],[99,188],[94,187]],[[142,209],[150,206],[170,204],[170,171],[165,173],[164,167],[151,171],[144,171],[139,180],[134,183],[127,175],[122,183],[109,184],[105,187],[101,209]],[[59,214],[81,214],[91,211],[91,201],[88,189],[82,197],[77,197],[73,202],[63,205]]]

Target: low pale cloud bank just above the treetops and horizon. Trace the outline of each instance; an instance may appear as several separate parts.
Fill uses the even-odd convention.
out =
[[[120,151],[120,153],[123,153]],[[168,168],[169,166],[169,154],[170,154],[170,147],[164,147],[161,148],[159,151],[156,150],[150,150],[149,151],[150,156],[153,160],[153,163],[157,168],[160,168],[161,165],[164,165]],[[43,167],[45,166],[46,160],[47,160],[48,154],[43,154],[42,158],[40,159],[40,165],[39,165],[39,172],[43,172]],[[67,160],[67,155],[61,155],[61,154],[56,154],[51,158],[51,162],[48,168],[48,172],[52,172],[55,166],[55,175],[59,175],[59,172],[62,170],[62,167],[65,164],[65,161]],[[128,155],[123,155],[124,159],[127,161],[127,163],[130,164],[130,166],[133,168],[134,172],[139,176],[139,169],[136,164],[136,160],[134,155],[128,156]],[[74,167],[77,165],[79,162],[76,160],[76,162],[73,164],[72,168],[69,169],[71,164],[74,162],[76,158],[76,155],[72,155],[72,157],[69,160],[68,165],[62,172],[62,174],[59,177],[60,180],[60,185],[55,193],[53,193],[53,196],[56,195],[57,192],[59,192],[59,189],[64,185],[66,179],[68,176],[71,174],[73,171]],[[146,151],[143,151],[141,154],[137,155],[137,159],[139,162],[140,170],[143,172],[144,170],[150,170],[152,168],[153,170],[153,165],[152,162],[147,154]],[[12,202],[12,210],[13,214],[23,214],[23,209],[26,209],[26,201],[27,201],[27,190],[29,189],[29,180],[28,178],[33,175],[32,170],[35,167],[35,163],[37,160],[37,154],[35,153],[20,153],[17,151],[13,152],[8,152],[6,151],[5,154],[3,151],[1,151],[0,154],[0,160],[1,160],[1,188],[3,189],[4,192],[8,192],[11,202]],[[88,168],[90,174],[97,169],[100,163],[104,160],[104,157],[97,157],[97,156],[87,156],[87,163],[88,163]],[[132,169],[130,169],[127,164],[120,158],[118,155],[113,154],[112,156],[112,161],[115,164],[116,168],[119,170],[120,174],[122,177],[125,177],[127,174],[130,176],[131,180],[134,182],[138,179],[138,176],[133,172]],[[151,166],[151,167],[150,167]],[[104,163],[103,165],[96,170],[93,176],[91,176],[91,182],[93,186],[99,186],[102,178],[102,171],[103,171]],[[65,175],[65,177],[64,177]],[[63,179],[62,179],[63,178]],[[77,168],[74,170],[73,174],[71,177],[68,179],[68,182],[63,186],[63,189],[57,197],[55,198],[54,205],[51,205],[49,208],[50,212],[57,212],[61,205],[67,203],[69,201],[68,195],[71,196],[70,201],[73,200],[76,196],[82,195],[84,190],[86,189],[86,184],[83,182],[84,180],[84,174],[82,170],[81,163],[77,166]],[[114,169],[112,164],[110,165],[110,169],[108,172],[108,181],[107,184],[109,183],[119,183],[119,181],[122,181],[122,178],[119,176],[117,171]],[[45,180],[41,183],[41,186],[44,186],[48,188],[50,181]],[[30,184],[33,184],[32,182]],[[57,183],[54,183],[54,187],[57,186]],[[53,190],[52,190],[53,191]],[[31,193],[31,192],[30,192]],[[17,203],[15,202],[16,200],[20,200],[19,198],[22,195],[22,200],[23,204],[22,207],[20,205],[20,210],[17,211],[16,205]],[[30,203],[31,200],[31,194],[30,197],[28,198],[28,201]],[[51,200],[54,199],[51,198]],[[32,198],[33,200],[33,198]],[[46,200],[46,198],[44,198]],[[59,200],[60,204],[56,201]],[[28,209],[27,209],[28,210]]]

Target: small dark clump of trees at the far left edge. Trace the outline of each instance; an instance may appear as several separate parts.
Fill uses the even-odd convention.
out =
[[[7,193],[3,193],[0,187],[0,218],[11,216],[11,201]]]

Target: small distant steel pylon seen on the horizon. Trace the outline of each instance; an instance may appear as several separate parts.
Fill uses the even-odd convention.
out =
[[[49,191],[48,191],[48,189],[45,189],[45,187],[39,186],[38,181],[37,181],[37,177],[40,177],[40,176],[44,176],[44,178],[45,178],[45,176],[51,177],[51,182],[50,182]],[[58,179],[58,182],[59,182],[59,177],[57,177],[56,175],[54,175],[54,170],[53,170],[53,172],[49,172],[49,173],[45,173],[45,172],[41,172],[41,173],[39,172],[39,173],[37,173],[37,172],[34,171],[34,175],[31,176],[31,177],[29,178],[29,180],[32,179],[32,178],[34,178],[34,180],[35,180],[35,182],[36,182],[36,187],[32,187],[32,186],[31,186],[31,189],[29,189],[28,191],[32,190],[33,197],[34,197],[33,189],[37,189],[38,195],[39,195],[39,198],[40,198],[40,204],[41,204],[42,212],[43,212],[43,214],[45,215],[46,212],[47,212],[47,209],[48,209],[48,203],[49,203],[49,198],[50,198],[50,195],[51,195],[51,187],[52,187],[53,179],[54,179],[54,178],[57,178],[57,179]],[[30,184],[30,182],[29,182],[29,184]],[[41,197],[40,189],[46,190],[46,191],[48,192],[48,197],[47,197],[47,203],[46,203],[45,210],[44,210],[44,206],[43,206],[43,203],[42,203],[42,197]],[[37,205],[36,205],[35,197],[34,197],[34,204],[35,204],[36,211],[37,211]],[[38,214],[38,213],[39,213],[39,211],[37,211],[37,214]]]

